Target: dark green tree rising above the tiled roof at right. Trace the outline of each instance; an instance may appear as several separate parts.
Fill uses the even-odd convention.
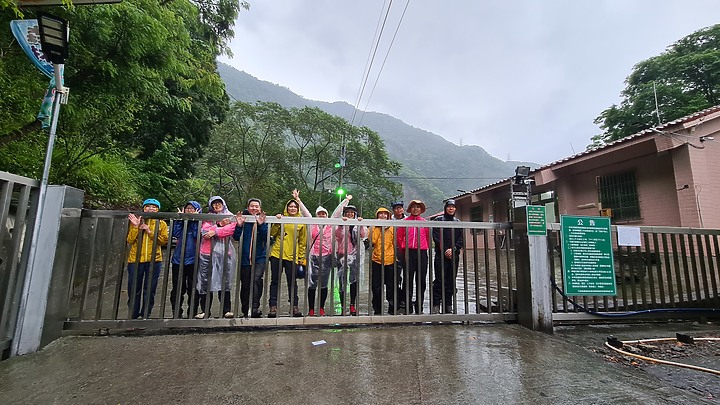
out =
[[[592,138],[591,147],[718,104],[720,25],[694,32],[638,63],[625,83],[620,105],[595,119],[603,133]]]

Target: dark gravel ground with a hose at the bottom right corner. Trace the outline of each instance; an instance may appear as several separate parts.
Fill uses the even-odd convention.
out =
[[[623,325],[562,326],[556,336],[578,344],[617,367],[636,370],[661,384],[681,388],[709,402],[720,402],[720,375],[679,366],[655,363],[618,353],[607,346],[608,336],[620,341],[675,338],[682,333],[693,338],[720,338],[720,323],[652,323]],[[720,373],[720,340],[693,344],[676,340],[626,344],[624,351],[644,357],[683,363]]]

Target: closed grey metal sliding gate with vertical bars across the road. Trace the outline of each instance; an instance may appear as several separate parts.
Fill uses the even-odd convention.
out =
[[[176,226],[185,231],[191,223],[202,221],[217,221],[221,216],[211,214],[144,214],[146,219],[156,219],[165,221],[168,224],[169,232],[172,233]],[[475,322],[475,321],[511,321],[516,319],[516,302],[515,302],[515,274],[511,265],[510,257],[511,249],[509,243],[505,242],[505,234],[510,227],[509,223],[469,223],[469,222],[436,222],[436,221],[412,221],[413,227],[418,229],[427,229],[430,233],[433,229],[440,228],[457,228],[462,229],[464,236],[464,249],[457,256],[458,271],[455,277],[454,299],[445,302],[452,302],[451,311],[446,311],[443,307],[441,313],[433,313],[436,306],[432,298],[433,282],[440,281],[444,283],[444,278],[436,277],[435,273],[435,250],[432,248],[430,241],[430,249],[428,250],[428,267],[423,272],[422,277],[415,279],[412,293],[405,291],[405,297],[408,302],[412,301],[412,296],[422,297],[422,313],[410,311],[410,305],[407,305],[404,311],[393,312],[397,314],[389,314],[388,308],[398,308],[398,301],[388,302],[386,299],[386,288],[381,288],[382,308],[380,312],[373,310],[372,304],[372,284],[373,273],[371,266],[371,252],[373,247],[367,251],[362,244],[354,254],[362,260],[362,266],[359,268],[358,294],[355,303],[355,315],[350,315],[349,311],[349,289],[347,288],[348,279],[343,280],[340,275],[343,274],[344,261],[337,257],[338,243],[333,242],[332,251],[332,271],[329,275],[327,304],[325,307],[326,316],[308,316],[308,291],[310,282],[310,272],[303,278],[291,278],[288,289],[288,281],[285,277],[279,280],[279,296],[278,296],[278,316],[276,318],[267,318],[268,293],[270,289],[271,269],[267,265],[264,270],[262,284],[262,298],[260,301],[260,310],[263,314],[261,318],[252,318],[251,314],[241,313],[241,277],[238,274],[243,271],[240,261],[236,261],[229,272],[231,275],[231,288],[227,292],[220,292],[219,295],[229,295],[232,304],[233,316],[230,318],[223,317],[220,313],[220,304],[216,301],[213,303],[213,317],[207,319],[194,319],[187,316],[193,311],[190,306],[195,306],[198,301],[197,291],[192,288],[189,297],[184,297],[184,303],[180,304],[176,294],[176,301],[171,302],[171,292],[174,287],[173,283],[173,266],[170,263],[170,256],[176,249],[183,249],[182,243],[175,245],[172,238],[167,247],[161,246],[157,231],[154,234],[145,235],[148,241],[148,247],[154,250],[162,251],[162,262],[160,274],[157,278],[157,287],[154,294],[154,305],[152,311],[141,314],[142,319],[133,319],[130,309],[134,302],[129,302],[129,295],[137,292],[134,290],[137,278],[128,283],[128,249],[129,244],[126,236],[128,235],[129,221],[127,219],[128,212],[120,211],[92,211],[83,210],[80,221],[80,229],[78,232],[77,243],[75,243],[75,251],[72,252],[73,265],[71,268],[70,288],[68,291],[68,300],[66,308],[65,330],[70,332],[80,332],[88,330],[99,330],[108,328],[114,330],[119,328],[206,328],[206,327],[278,327],[278,326],[310,326],[310,325],[336,325],[336,324],[385,324],[385,323],[418,323],[418,322]],[[233,218],[234,219],[234,218]],[[248,218],[252,222],[253,218]],[[409,221],[387,221],[387,220],[362,220],[352,223],[354,226],[365,226],[368,231],[373,228],[388,229],[400,228],[400,225],[407,224]],[[314,225],[319,227],[331,227],[333,234],[336,230],[349,227],[351,222],[345,222],[340,219],[319,219],[319,218],[287,218],[276,219],[268,216],[267,223],[270,228],[277,229],[280,234],[284,234],[286,228],[293,227],[297,224],[305,225],[305,243],[306,250],[309,250],[313,243],[311,229]],[[159,229],[159,227],[156,227]],[[419,235],[420,233],[418,233]],[[222,242],[225,243],[228,251],[232,251],[235,257],[243,255],[241,238],[239,241],[226,238]],[[274,240],[270,235],[265,240],[256,240],[255,244],[265,244],[267,252],[272,249]],[[393,244],[398,250],[396,241]],[[346,242],[347,243],[347,242]],[[496,248],[497,247],[497,248]],[[199,251],[199,250],[198,250]],[[399,251],[399,250],[398,250]],[[70,253],[68,253],[70,254]],[[411,258],[412,254],[419,254],[417,251],[407,250],[399,252],[399,255],[405,255],[406,259]],[[154,256],[154,255],[153,255]],[[200,257],[197,258],[198,260]],[[307,261],[307,257],[305,261]],[[132,264],[132,263],[131,263]],[[304,263],[305,264],[305,263]],[[154,266],[154,263],[150,263]],[[386,266],[384,271],[395,271],[397,264]],[[444,264],[441,263],[441,267]],[[184,268],[179,266],[176,268],[183,272],[197,272],[188,266]],[[293,270],[296,271],[296,270]],[[345,272],[344,274],[347,274]],[[380,277],[384,276],[384,272],[379,273]],[[195,274],[193,274],[195,275]],[[398,273],[402,277],[402,271]],[[377,274],[376,274],[377,277]],[[182,275],[179,276],[182,279]],[[196,278],[193,278],[196,280]],[[426,291],[422,294],[421,283],[418,280],[424,280],[427,286]],[[400,281],[402,283],[402,281]],[[177,283],[178,288],[180,282]],[[138,284],[140,285],[140,284]],[[289,292],[297,286],[299,296],[299,310],[304,315],[302,317],[292,316],[292,306],[289,304]],[[143,305],[147,307],[149,301],[147,296],[151,295],[152,283],[146,283],[143,294],[145,300]],[[402,287],[402,285],[401,285]],[[441,286],[444,287],[444,286]],[[444,290],[444,288],[443,288]],[[131,292],[132,291],[132,292]],[[342,296],[341,296],[342,292]],[[225,297],[222,297],[225,298]],[[399,299],[402,299],[400,297]],[[398,300],[398,297],[394,298]],[[217,299],[216,299],[217,300]],[[341,303],[344,302],[344,307]],[[396,304],[396,305],[392,305]],[[175,308],[175,311],[173,311]],[[316,305],[315,312],[319,315]],[[377,307],[376,307],[377,309]],[[203,308],[204,310],[204,308]],[[179,316],[180,313],[185,314],[184,317]]]

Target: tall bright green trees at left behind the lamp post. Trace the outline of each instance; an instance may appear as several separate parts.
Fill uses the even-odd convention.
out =
[[[53,9],[72,27],[65,68],[71,94],[50,181],[83,188],[91,204],[107,206],[162,194],[158,187],[192,176],[228,108],[216,57],[227,51],[232,22],[247,7],[233,0],[125,0]],[[9,8],[0,16],[3,23],[13,18]],[[47,80],[11,40],[2,37],[0,47],[0,170],[37,178],[47,135],[35,115]],[[104,171],[105,184],[94,183],[102,178],[92,175],[96,170]],[[112,173],[114,180],[107,178]],[[119,181],[129,183],[104,187]]]

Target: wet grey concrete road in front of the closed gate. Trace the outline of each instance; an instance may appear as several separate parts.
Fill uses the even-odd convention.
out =
[[[5,404],[703,401],[517,325],[66,337],[0,362]]]

